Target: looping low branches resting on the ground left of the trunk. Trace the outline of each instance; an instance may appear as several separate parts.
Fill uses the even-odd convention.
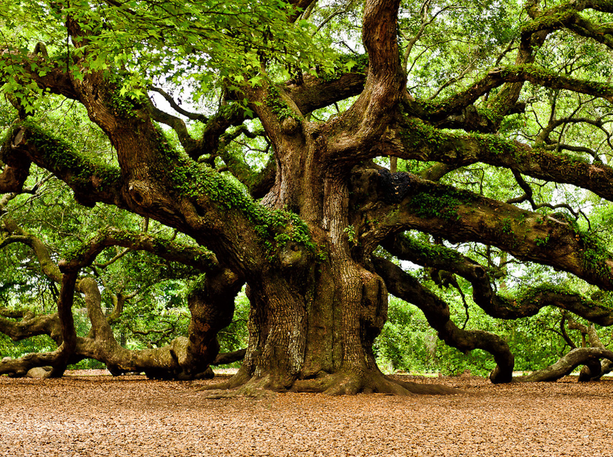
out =
[[[105,363],[113,374],[145,371],[148,376],[156,378],[192,379],[211,376],[208,366],[215,363],[219,352],[216,335],[232,320],[234,297],[243,284],[237,275],[218,265],[215,255],[196,247],[182,247],[172,241],[159,240],[145,233],[107,227],[80,251],[75,252],[71,260],[61,262],[58,268],[51,262],[48,249],[39,238],[25,232],[12,219],[7,219],[5,223],[7,230],[19,234],[10,235],[6,240],[31,246],[41,265],[44,265],[44,273],[61,282],[62,287],[58,314],[34,317],[5,312],[3,314],[9,314],[9,318],[0,318],[0,331],[13,339],[49,334],[57,342],[58,350],[46,355],[27,355],[17,360],[2,361],[0,373],[23,376],[30,368],[41,366],[42,363],[53,368],[51,376],[61,376],[68,363],[82,358],[94,358]],[[18,240],[12,240],[11,236],[18,236]],[[115,245],[150,251],[208,271],[204,281],[189,296],[192,319],[187,338],[176,338],[168,346],[141,351],[124,349],[116,342],[109,320],[102,313],[97,282],[93,278],[78,279],[80,270],[94,262],[97,254],[105,247]],[[71,310],[75,292],[83,293],[85,297],[92,325],[91,338],[77,338],[75,334]],[[22,320],[15,322],[10,317],[22,317]],[[226,355],[225,358],[236,360],[240,356],[237,353]]]

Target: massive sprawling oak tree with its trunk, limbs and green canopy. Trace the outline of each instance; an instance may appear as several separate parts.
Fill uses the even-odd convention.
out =
[[[202,248],[112,229],[57,264],[43,262],[40,248],[41,266],[61,285],[56,323],[45,324],[60,346],[27,363],[4,361],[3,372],[50,364],[61,374],[75,355],[117,371],[202,372],[246,284],[248,347],[224,388],[407,393],[373,354],[390,293],[421,308],[447,344],[492,353],[490,379],[511,381],[508,344],[454,323],[449,304],[394,259],[465,279],[493,317],[557,306],[613,323],[604,302],[568,288],[500,293],[491,258],[480,263],[462,247],[477,243],[504,262],[613,289],[613,255],[565,194],[599,205],[613,198],[611,2],[256,3],[1,7],[0,78],[16,119],[2,145],[0,191],[23,192],[40,167],[82,205],[115,205]],[[208,105],[182,104],[171,90],[180,84]],[[112,161],[41,128],[37,112],[49,100],[83,107]],[[161,110],[162,100],[172,109]],[[259,144],[267,162],[246,159],[241,142]],[[539,191],[554,189],[547,183],[562,190]],[[36,251],[35,237],[3,224],[4,244]],[[96,282],[81,273],[108,246],[205,272],[190,296],[188,338],[154,353],[116,347]],[[85,294],[95,328],[87,340],[72,325],[75,293]],[[613,353],[583,349],[562,364],[587,364],[598,376],[595,360]]]

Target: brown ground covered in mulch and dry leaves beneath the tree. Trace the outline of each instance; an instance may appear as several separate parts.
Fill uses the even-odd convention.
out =
[[[613,456],[613,380],[403,377],[463,393],[211,400],[205,381],[84,374],[0,377],[0,455]]]

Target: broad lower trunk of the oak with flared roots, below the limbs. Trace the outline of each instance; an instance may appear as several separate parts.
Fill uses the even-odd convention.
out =
[[[305,290],[292,290],[279,278],[264,279],[257,289],[251,285],[243,364],[228,382],[208,388],[237,388],[234,395],[256,395],[262,389],[329,395],[457,393],[397,382],[379,371],[372,347],[387,317],[386,287],[364,266],[348,263],[340,273],[331,266],[313,269]]]

